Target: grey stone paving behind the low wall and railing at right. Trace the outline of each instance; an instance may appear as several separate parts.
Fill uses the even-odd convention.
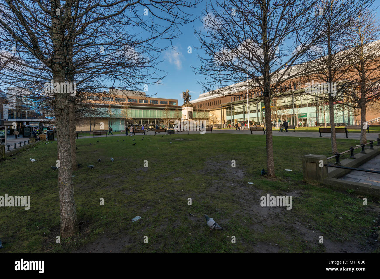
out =
[[[358,167],[359,169],[370,169],[371,171],[380,171],[380,156],[373,158],[363,165]],[[365,171],[350,171],[348,174],[340,177],[340,179],[351,180],[354,182],[360,182],[365,184],[374,185],[380,188],[380,173],[372,173]]]

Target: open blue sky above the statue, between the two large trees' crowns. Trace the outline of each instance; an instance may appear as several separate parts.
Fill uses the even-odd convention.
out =
[[[379,5],[380,0],[376,0],[374,7]],[[181,105],[182,91],[190,90],[192,100],[198,98],[199,92],[203,93],[204,89],[197,82],[197,80],[203,80],[203,77],[195,75],[191,68],[192,65],[195,67],[200,65],[200,61],[196,56],[197,52],[193,48],[192,53],[189,54],[187,53],[187,47],[198,46],[198,39],[195,37],[194,28],[196,30],[203,30],[203,23],[199,17],[201,17],[205,6],[206,1],[203,0],[197,9],[193,9],[193,14],[198,19],[195,22],[180,27],[182,34],[173,40],[173,46],[178,53],[174,50],[167,50],[161,53],[161,60],[163,61],[160,63],[159,68],[168,72],[168,75],[162,80],[162,84],[150,85],[148,92],[146,92],[147,95],[157,93],[155,97],[178,99]]]

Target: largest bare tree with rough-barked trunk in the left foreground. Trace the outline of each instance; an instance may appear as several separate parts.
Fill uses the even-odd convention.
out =
[[[41,97],[50,102],[55,113],[62,237],[78,232],[72,169],[74,114],[81,92],[101,92],[118,83],[124,88],[141,88],[165,76],[156,73],[158,53],[163,49],[158,40],[175,38],[179,34],[177,26],[191,21],[190,14],[183,10],[195,5],[192,0],[0,3],[0,43],[6,50],[0,53],[2,83],[24,89],[37,83],[41,91],[47,89]],[[142,9],[147,17],[140,14]],[[144,38],[142,33],[149,35]],[[150,70],[153,73],[149,74]],[[44,83],[51,80],[54,89],[44,88]],[[61,90],[59,85],[66,83],[78,84],[78,96]]]

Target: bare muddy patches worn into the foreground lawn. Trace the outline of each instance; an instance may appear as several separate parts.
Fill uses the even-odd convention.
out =
[[[226,174],[221,180],[213,180],[211,185],[207,188],[207,193],[199,193],[199,197],[205,195],[217,195],[218,193],[225,193],[228,191],[231,196],[234,197],[233,202],[239,205],[239,209],[234,212],[234,216],[241,216],[241,218],[249,218],[252,224],[249,224],[249,229],[254,232],[255,235],[265,236],[268,230],[274,228],[281,228],[281,233],[285,234],[290,239],[301,239],[301,243],[294,243],[294,245],[302,245],[305,247],[304,252],[329,252],[329,253],[342,253],[342,252],[373,252],[379,247],[379,232],[374,232],[362,241],[333,241],[328,238],[324,238],[323,243],[318,243],[316,240],[322,235],[322,233],[316,229],[313,220],[305,223],[304,218],[296,216],[290,213],[291,210],[287,210],[285,207],[261,207],[260,197],[266,196],[266,191],[255,189],[255,183],[253,185],[243,185],[241,179],[244,177],[244,169],[231,168],[231,161],[223,161],[221,163],[215,163],[214,161],[208,161],[205,163],[203,173],[208,174],[211,172],[221,171]],[[297,198],[301,196],[303,190],[295,190],[287,193],[283,193],[285,196],[293,196]],[[256,201],[256,202],[253,202]],[[151,206],[147,206],[145,209],[150,209]],[[380,213],[379,208],[373,207],[377,213]],[[143,208],[144,209],[144,208]],[[198,227],[194,233],[202,234],[205,232],[204,218],[203,216],[188,215],[187,219],[190,224]],[[228,220],[220,219],[218,223],[224,225],[228,231]],[[179,226],[180,224],[176,224]],[[157,230],[165,230],[166,224],[160,224]],[[175,226],[175,225],[173,225]],[[376,224],[375,227],[379,227]],[[276,229],[274,229],[276,230]],[[359,232],[358,232],[359,233]],[[252,247],[253,252],[258,253],[276,253],[276,252],[289,252],[287,249],[281,247],[280,244],[274,241],[249,241],[242,240],[244,245]],[[128,235],[119,233],[117,235],[107,235],[105,232],[96,241],[88,243],[87,245],[79,248],[73,252],[82,253],[106,253],[106,252],[125,252],[126,246],[133,245],[133,239]],[[175,251],[174,251],[175,252]]]

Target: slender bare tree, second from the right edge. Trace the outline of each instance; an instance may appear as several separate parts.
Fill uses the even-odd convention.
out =
[[[305,56],[309,61],[310,71],[306,91],[329,104],[332,153],[337,152],[334,102],[342,98],[348,88],[345,82],[347,76],[347,54],[351,45],[347,43],[345,34],[351,21],[358,15],[357,6],[366,9],[370,2],[343,0],[323,0],[318,3],[319,24],[323,38],[318,45],[310,49]],[[315,85],[317,84],[317,85]]]

